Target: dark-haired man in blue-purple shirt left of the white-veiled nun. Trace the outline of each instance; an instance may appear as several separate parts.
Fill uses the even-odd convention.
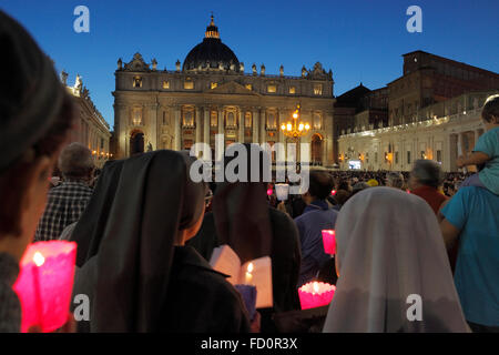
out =
[[[295,219],[302,245],[298,286],[315,280],[319,271],[332,262],[330,255],[324,252],[322,231],[335,227],[338,212],[330,209],[326,201],[334,185],[330,174],[310,172],[308,191],[302,196],[307,206],[304,213]],[[330,273],[335,274],[334,267]]]

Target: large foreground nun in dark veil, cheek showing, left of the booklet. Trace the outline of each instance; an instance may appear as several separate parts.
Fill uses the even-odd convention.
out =
[[[191,163],[173,151],[122,163],[109,216],[94,229],[99,246],[75,277],[74,294],[91,298],[91,332],[249,332],[225,275],[184,246],[204,214],[205,185],[190,179]]]

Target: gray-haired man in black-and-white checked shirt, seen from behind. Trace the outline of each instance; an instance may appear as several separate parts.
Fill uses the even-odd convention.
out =
[[[49,192],[45,212],[34,235],[35,241],[57,240],[62,231],[77,222],[92,196],[89,184],[94,162],[92,152],[80,143],[65,146],[59,156],[63,183]]]

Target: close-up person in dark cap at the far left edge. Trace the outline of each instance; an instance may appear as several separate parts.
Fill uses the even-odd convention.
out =
[[[75,114],[52,61],[0,10],[0,332],[20,332],[12,290],[43,213],[49,176]]]

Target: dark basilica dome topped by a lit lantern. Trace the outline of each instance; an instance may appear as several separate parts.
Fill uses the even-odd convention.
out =
[[[240,69],[237,57],[227,45],[222,43],[218,28],[215,26],[212,16],[212,21],[206,27],[203,42],[189,52],[182,70],[232,70],[238,72]]]

